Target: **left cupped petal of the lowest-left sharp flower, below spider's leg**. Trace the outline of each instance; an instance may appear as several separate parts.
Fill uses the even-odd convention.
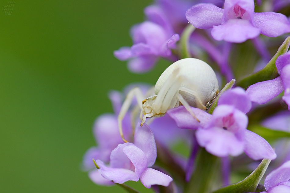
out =
[[[112,168],[125,168],[128,170],[134,170],[132,163],[128,156],[124,153],[123,148],[126,146],[135,146],[132,143],[119,144],[110,155],[110,166]]]

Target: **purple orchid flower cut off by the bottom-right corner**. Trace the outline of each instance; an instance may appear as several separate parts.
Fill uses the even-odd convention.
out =
[[[287,161],[267,175],[264,182],[266,191],[261,193],[288,193],[290,192],[289,179],[290,161]]]

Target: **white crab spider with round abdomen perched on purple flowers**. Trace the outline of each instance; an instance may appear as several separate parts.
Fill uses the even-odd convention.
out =
[[[155,84],[155,94],[144,100],[139,88],[129,91],[118,115],[118,126],[121,138],[124,139],[122,120],[127,113],[132,99],[136,96],[141,113],[141,126],[147,117],[164,116],[168,109],[183,105],[199,122],[190,106],[205,109],[203,104],[209,102],[219,93],[218,81],[212,68],[205,62],[186,58],[170,65]]]

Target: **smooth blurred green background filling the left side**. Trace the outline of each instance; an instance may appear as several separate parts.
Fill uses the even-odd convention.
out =
[[[113,112],[108,91],[154,84],[168,66],[136,75],[113,56],[150,3],[15,1],[0,13],[0,192],[125,192],[93,184],[81,162],[94,120]]]

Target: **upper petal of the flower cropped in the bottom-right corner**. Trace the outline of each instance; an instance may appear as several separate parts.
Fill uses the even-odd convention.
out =
[[[290,179],[290,161],[287,161],[273,170],[265,179],[265,189],[269,189],[277,186],[280,182],[288,181]]]

